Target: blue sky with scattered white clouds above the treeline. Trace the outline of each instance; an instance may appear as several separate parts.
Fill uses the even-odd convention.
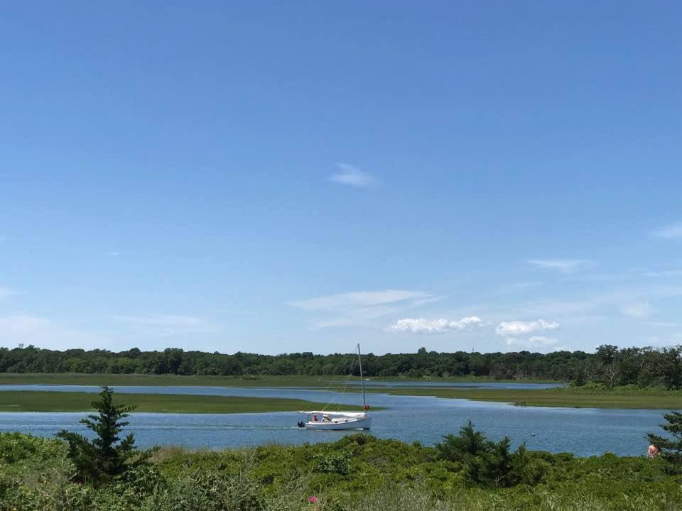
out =
[[[0,344],[682,344],[678,2],[0,6]]]

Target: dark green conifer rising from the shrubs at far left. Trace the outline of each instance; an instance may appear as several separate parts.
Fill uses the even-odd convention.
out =
[[[57,436],[69,444],[69,458],[76,467],[79,480],[94,484],[102,483],[126,470],[126,460],[136,453],[133,434],[121,441],[119,433],[129,423],[123,421],[134,406],[114,406],[113,390],[102,387],[99,400],[92,402],[98,414],[88,415],[80,422],[92,429],[97,436],[88,440],[85,436],[65,429]]]

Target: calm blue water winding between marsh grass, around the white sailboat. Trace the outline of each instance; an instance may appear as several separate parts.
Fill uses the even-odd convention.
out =
[[[393,383],[391,383],[393,384]],[[502,384],[523,388],[533,384]],[[475,386],[485,386],[475,384]],[[532,386],[530,388],[537,388]],[[99,392],[79,385],[0,385],[0,390],[52,390],[55,392]],[[316,402],[354,404],[357,393],[303,388],[226,387],[114,387],[117,392],[247,397],[291,397]],[[372,432],[380,438],[434,444],[444,434],[458,432],[471,420],[477,429],[499,439],[509,436],[514,444],[526,442],[529,449],[580,456],[604,452],[639,456],[646,451],[646,433],[659,430],[664,410],[594,410],[573,408],[515,407],[503,403],[438,399],[436,397],[370,394],[368,401],[388,410],[373,412]],[[333,410],[334,407],[330,407]],[[82,413],[0,412],[0,431],[19,431],[52,436],[60,429],[82,431]],[[129,429],[140,446],[174,444],[219,449],[278,442],[333,441],[349,432],[315,432],[296,427],[301,419],[293,412],[266,414],[131,414]],[[367,433],[369,434],[369,433]]]

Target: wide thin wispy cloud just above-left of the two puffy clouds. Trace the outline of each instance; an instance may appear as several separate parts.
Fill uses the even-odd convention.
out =
[[[306,312],[331,316],[315,322],[316,328],[325,328],[364,324],[438,300],[443,300],[443,297],[423,291],[383,290],[339,293],[296,300],[288,304]]]

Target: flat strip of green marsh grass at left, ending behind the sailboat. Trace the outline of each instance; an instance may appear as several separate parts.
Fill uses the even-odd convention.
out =
[[[256,413],[322,410],[323,403],[271,397],[223,397],[214,395],[122,394],[116,402],[134,405],[137,412]],[[362,407],[344,406],[361,411]],[[0,392],[0,412],[87,412],[93,410],[87,392]]]

